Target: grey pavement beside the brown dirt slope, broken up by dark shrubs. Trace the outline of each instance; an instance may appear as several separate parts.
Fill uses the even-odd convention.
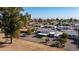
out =
[[[26,37],[21,37],[21,39],[22,40],[33,41],[33,42],[36,42],[36,43],[44,42],[43,39],[36,38],[34,36],[35,36],[34,34],[27,35]],[[49,38],[49,40],[50,40],[50,42],[48,43],[48,45],[53,43],[53,41],[52,41],[53,38]],[[79,49],[77,48],[77,45],[74,44],[74,40],[71,40],[71,39],[67,40],[67,43],[65,44],[64,50],[67,50],[67,51],[79,51]]]

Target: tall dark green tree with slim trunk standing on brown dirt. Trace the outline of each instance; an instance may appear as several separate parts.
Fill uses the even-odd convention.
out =
[[[23,9],[21,7],[4,7],[0,8],[0,13],[3,16],[2,19],[2,29],[5,36],[10,36],[10,43],[12,43],[13,37],[16,33],[20,32],[21,19],[20,11]]]

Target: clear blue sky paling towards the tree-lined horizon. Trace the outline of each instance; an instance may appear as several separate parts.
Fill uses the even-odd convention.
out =
[[[79,19],[79,7],[24,7],[33,18],[76,18]]]

